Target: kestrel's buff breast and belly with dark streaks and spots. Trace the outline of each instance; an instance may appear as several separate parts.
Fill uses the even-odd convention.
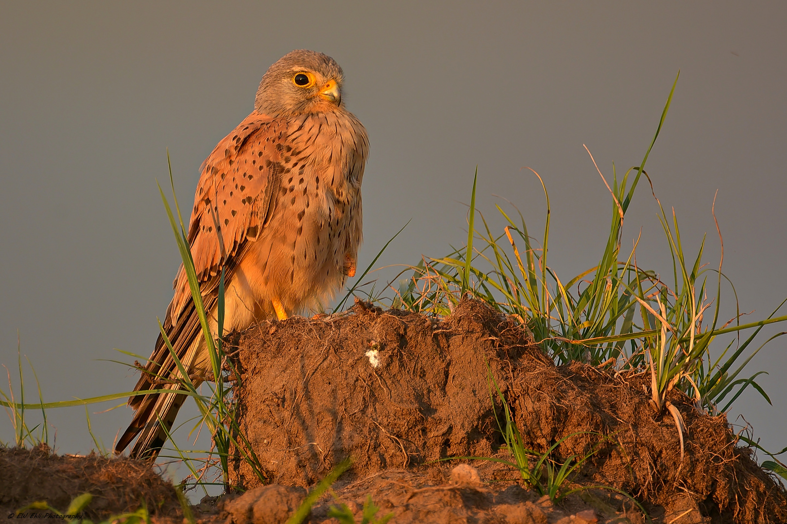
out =
[[[254,295],[273,293],[297,311],[330,300],[344,283],[345,258],[357,257],[368,139],[349,113],[308,115],[288,127],[287,169],[253,247],[260,270]]]

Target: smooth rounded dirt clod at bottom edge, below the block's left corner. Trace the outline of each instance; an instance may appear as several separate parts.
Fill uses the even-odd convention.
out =
[[[284,524],[306,498],[299,487],[269,484],[249,489],[224,504],[229,513],[227,524]]]

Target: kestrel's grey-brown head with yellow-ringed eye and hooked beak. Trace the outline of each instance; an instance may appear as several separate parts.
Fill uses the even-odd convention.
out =
[[[344,73],[336,60],[297,49],[273,64],[260,82],[254,108],[274,118],[335,111],[342,104]]]

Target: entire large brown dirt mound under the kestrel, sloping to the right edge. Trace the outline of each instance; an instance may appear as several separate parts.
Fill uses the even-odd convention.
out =
[[[785,491],[735,446],[724,416],[673,395],[688,428],[681,463],[674,422],[654,416],[644,376],[556,368],[523,327],[481,302],[462,302],[444,321],[358,303],[342,316],[260,324],[237,345],[242,433],[268,482],[311,486],[347,456],[355,482],[449,456],[493,456],[501,406],[489,369],[530,447],[577,431],[606,437],[578,434],[558,449],[583,456],[600,445],[584,470],[590,481],[668,514],[688,497],[689,513],[708,522],[787,521]],[[232,468],[232,482],[260,484],[241,460]]]

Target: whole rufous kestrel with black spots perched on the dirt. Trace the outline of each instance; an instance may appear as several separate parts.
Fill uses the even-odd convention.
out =
[[[355,275],[369,141],[343,86],[333,58],[287,53],[263,75],[253,112],[202,163],[187,240],[214,339],[222,271],[227,333],[319,310]],[[196,387],[212,371],[183,264],[173,289],[162,330]],[[160,333],[134,390],[172,393],[128,399],[135,413],[115,453],[137,438],[129,456],[156,459],[187,397],[179,379]]]

